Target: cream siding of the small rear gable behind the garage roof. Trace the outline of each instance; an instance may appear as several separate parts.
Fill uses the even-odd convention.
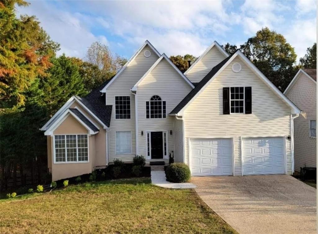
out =
[[[216,46],[213,46],[212,49],[191,68],[190,72],[187,73],[188,79],[191,82],[200,82],[215,65],[219,64],[225,58],[225,55],[220,52]]]

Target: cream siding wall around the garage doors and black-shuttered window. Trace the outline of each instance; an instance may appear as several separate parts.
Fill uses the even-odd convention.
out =
[[[239,62],[242,70],[232,72]],[[223,87],[252,86],[252,114],[223,114]],[[234,138],[235,175],[241,175],[240,137],[290,135],[290,108],[239,58],[234,59],[189,105],[185,121],[185,156],[189,163],[189,138]],[[290,141],[287,141],[287,169],[291,174]]]

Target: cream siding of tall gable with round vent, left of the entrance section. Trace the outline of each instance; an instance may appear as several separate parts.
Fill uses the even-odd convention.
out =
[[[151,52],[150,57],[146,58],[143,53],[145,50]],[[140,78],[149,70],[159,57],[147,45],[137,55],[137,57],[126,67],[126,69],[114,80],[107,88],[107,105],[113,105],[111,117],[111,129],[109,131],[109,159],[112,162],[119,158],[124,162],[132,162],[136,154],[136,133],[135,133],[135,96],[130,89]],[[130,96],[130,119],[115,119],[115,96]],[[129,155],[116,155],[116,131],[131,131],[132,152]]]

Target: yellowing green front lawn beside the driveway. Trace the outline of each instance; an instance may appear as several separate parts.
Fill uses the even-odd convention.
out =
[[[236,233],[192,189],[149,178],[71,185],[0,202],[0,233]]]

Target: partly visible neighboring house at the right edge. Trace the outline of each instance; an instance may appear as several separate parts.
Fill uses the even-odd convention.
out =
[[[316,69],[300,69],[284,94],[302,110],[294,120],[295,171],[316,167]]]

